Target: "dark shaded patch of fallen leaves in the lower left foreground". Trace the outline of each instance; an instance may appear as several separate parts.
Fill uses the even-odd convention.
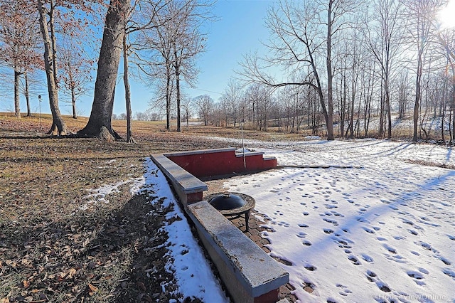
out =
[[[27,225],[0,222],[0,252],[6,252],[1,257],[0,279],[8,281],[2,282],[0,298],[9,297],[9,302],[178,301],[179,294],[173,293],[176,281],[166,270],[168,237],[162,227],[169,208],[162,198],[151,195],[150,191],[139,193],[119,208],[98,205],[94,211],[79,211],[60,220],[43,213]]]

